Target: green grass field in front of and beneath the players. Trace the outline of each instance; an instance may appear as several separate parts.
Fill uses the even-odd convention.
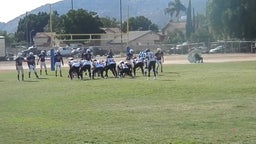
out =
[[[255,74],[256,62],[165,65],[157,80],[0,72],[0,143],[253,144]]]

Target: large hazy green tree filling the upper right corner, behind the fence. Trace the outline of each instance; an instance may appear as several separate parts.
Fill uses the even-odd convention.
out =
[[[218,39],[256,38],[255,0],[209,0],[207,18]]]

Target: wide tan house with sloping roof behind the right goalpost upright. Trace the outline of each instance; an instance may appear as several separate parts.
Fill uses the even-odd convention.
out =
[[[113,46],[129,46],[130,48],[140,51],[150,46],[154,46],[162,41],[162,36],[153,31],[129,31],[123,33],[109,42]]]

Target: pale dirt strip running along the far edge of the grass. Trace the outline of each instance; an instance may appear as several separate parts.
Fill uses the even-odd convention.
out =
[[[256,61],[256,54],[204,54],[204,63],[220,63],[220,62],[235,62],[235,61]],[[116,58],[116,61],[124,58]],[[68,60],[65,59],[64,67],[67,67]],[[164,64],[189,64],[187,55],[166,55]],[[47,61],[48,67],[50,67],[49,60]],[[39,66],[37,66],[39,67]],[[26,69],[26,63],[24,63]],[[0,71],[15,70],[14,61],[1,61]]]

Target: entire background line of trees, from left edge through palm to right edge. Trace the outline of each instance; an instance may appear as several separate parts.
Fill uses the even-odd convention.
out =
[[[172,21],[177,22],[182,12],[186,15],[186,33],[170,32],[165,43],[209,42],[223,39],[255,40],[256,37],[255,0],[208,0],[206,14],[195,14],[191,0],[187,7],[180,0],[171,0],[164,12],[170,15]],[[130,17],[121,23],[115,18],[99,17],[96,12],[84,9],[70,10],[64,15],[53,11],[51,19],[52,31],[59,34],[103,33],[102,27],[122,27],[122,31],[126,32],[128,22],[130,31],[158,31],[158,26],[144,16]],[[20,19],[14,34],[0,34],[6,36],[6,43],[26,43],[31,42],[36,32],[50,31],[50,15],[39,12],[27,14]]]

